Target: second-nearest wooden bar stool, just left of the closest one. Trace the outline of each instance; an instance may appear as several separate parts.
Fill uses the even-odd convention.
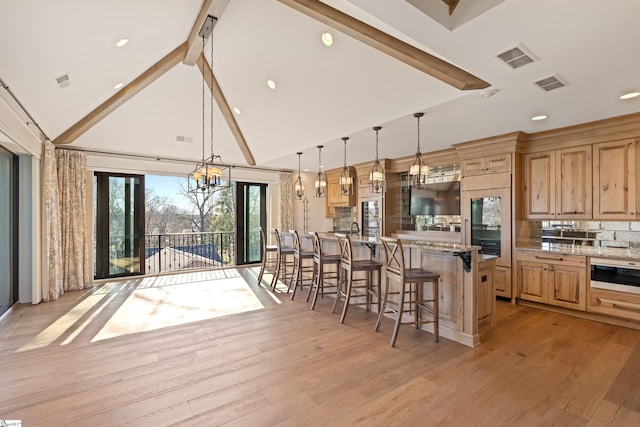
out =
[[[367,311],[371,309],[372,299],[375,298],[375,304],[380,310],[380,272],[382,264],[370,259],[354,259],[353,246],[349,235],[336,233],[336,237],[340,243],[340,282],[331,312],[335,311],[338,301],[344,297],[344,307],[342,308],[342,316],[340,316],[340,323],[344,323],[352,297],[364,297],[364,303],[354,303],[354,305],[364,305]],[[363,279],[354,279],[353,273],[355,272],[365,272],[366,276]],[[372,275],[376,272],[378,280],[374,287]],[[358,292],[353,293],[354,290]]]

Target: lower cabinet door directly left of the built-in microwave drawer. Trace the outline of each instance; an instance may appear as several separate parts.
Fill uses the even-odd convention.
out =
[[[587,309],[585,268],[549,265],[549,304],[585,311]]]

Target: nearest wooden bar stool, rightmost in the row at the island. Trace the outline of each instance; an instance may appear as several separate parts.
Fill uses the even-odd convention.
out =
[[[439,341],[439,321],[438,321],[438,281],[440,276],[436,273],[424,270],[422,268],[405,268],[404,252],[400,240],[391,237],[378,237],[384,246],[387,257],[386,261],[386,284],[382,309],[378,313],[378,321],[374,331],[380,329],[380,321],[385,313],[395,313],[396,322],[391,335],[391,347],[395,346],[398,330],[401,324],[411,324],[419,328],[420,325],[433,323],[433,335],[436,342]],[[389,292],[389,281],[399,282],[400,290],[398,292]],[[431,282],[432,297],[424,299],[422,285]],[[397,306],[390,305],[389,295],[398,295]],[[408,298],[408,299],[405,299]],[[404,305],[410,304],[410,312],[414,313],[412,321],[403,321]],[[429,304],[431,307],[429,307]],[[431,312],[431,317],[427,320],[422,318],[422,312]]]

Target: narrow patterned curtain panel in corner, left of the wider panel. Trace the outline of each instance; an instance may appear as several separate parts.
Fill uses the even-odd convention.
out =
[[[62,272],[60,263],[58,263],[62,253],[62,239],[60,237],[60,218],[58,215],[60,194],[58,192],[58,167],[56,165],[55,150],[55,146],[51,141],[45,141],[42,187],[46,255],[43,264],[47,274],[43,274],[41,284],[42,299],[44,301],[58,299],[64,293]]]

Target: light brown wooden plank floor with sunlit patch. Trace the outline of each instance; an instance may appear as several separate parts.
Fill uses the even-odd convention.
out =
[[[108,283],[0,323],[24,426],[640,425],[640,331],[498,304],[471,349],[256,285],[255,269]]]

